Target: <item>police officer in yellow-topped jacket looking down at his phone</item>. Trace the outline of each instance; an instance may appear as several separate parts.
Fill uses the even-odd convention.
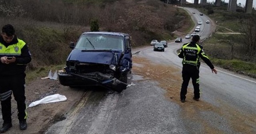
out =
[[[2,28],[0,36],[0,101],[2,118],[4,120],[0,132],[6,132],[12,127],[11,95],[18,107],[20,130],[27,128],[25,104],[25,70],[31,56],[28,46],[15,35],[14,27],[10,24]]]

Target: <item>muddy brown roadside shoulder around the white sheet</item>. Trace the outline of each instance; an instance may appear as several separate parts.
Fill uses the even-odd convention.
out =
[[[58,80],[40,79],[37,78],[28,85],[26,85],[26,104],[27,106],[34,101],[38,101],[43,97],[53,94],[60,94],[67,97],[67,101],[40,104],[31,108],[27,108],[28,128],[26,130],[19,129],[17,118],[17,105],[12,96],[12,128],[5,134],[44,134],[47,128],[52,124],[64,120],[66,114],[76,104],[77,101],[84,94],[82,89],[71,89],[60,85]],[[0,120],[2,126],[3,120]]]

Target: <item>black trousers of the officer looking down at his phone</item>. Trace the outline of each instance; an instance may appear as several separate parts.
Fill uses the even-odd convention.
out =
[[[13,76],[0,76],[0,101],[2,106],[2,117],[5,123],[12,122],[11,111],[11,95],[13,93],[14,99],[18,107],[18,119],[24,120],[27,117],[25,104],[25,77],[22,73]]]

